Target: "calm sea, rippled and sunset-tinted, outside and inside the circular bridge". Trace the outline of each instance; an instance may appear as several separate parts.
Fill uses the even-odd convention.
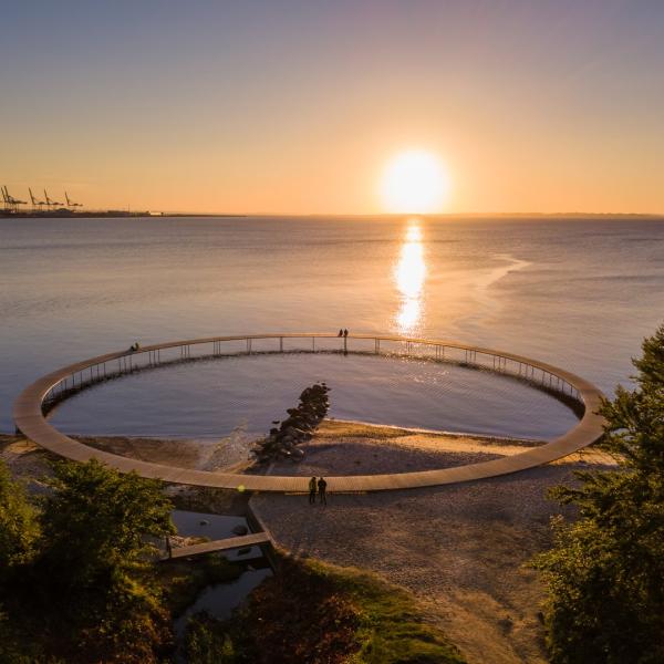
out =
[[[664,323],[664,219],[0,219],[0,432],[37,377],[170,340],[338,332],[437,338],[570,370],[611,395]],[[350,353],[173,364],[81,392],[61,430],[249,439],[325,381],[330,415],[550,438],[575,422],[528,384]]]

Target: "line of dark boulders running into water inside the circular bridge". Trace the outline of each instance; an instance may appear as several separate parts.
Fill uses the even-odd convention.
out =
[[[300,394],[300,403],[295,408],[288,408],[288,417],[282,422],[273,422],[270,433],[258,440],[252,453],[259,464],[278,459],[299,461],[304,456],[301,443],[310,440],[318,425],[328,414],[330,407],[330,387],[325,383],[315,383]]]

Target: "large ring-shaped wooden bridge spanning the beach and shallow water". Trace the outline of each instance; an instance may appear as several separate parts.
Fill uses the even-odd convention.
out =
[[[193,352],[194,351],[194,352]],[[17,430],[30,440],[68,459],[97,459],[122,473],[168,483],[249,491],[300,492],[308,490],[308,477],[238,475],[191,470],[153,464],[94,449],[65,436],[46,421],[45,414],[58,402],[80,390],[135,371],[159,365],[217,356],[329,352],[387,356],[413,356],[433,362],[454,362],[527,381],[583,411],[580,422],[563,436],[539,447],[508,457],[417,473],[388,475],[345,475],[328,477],[329,491],[380,491],[470,481],[508,475],[562,458],[591,445],[603,433],[598,408],[602,393],[569,371],[522,355],[477,347],[454,341],[351,334],[339,338],[326,333],[251,334],[175,341],[141,347],[137,351],[108,353],[64,366],[29,385],[17,398],[13,417]]]

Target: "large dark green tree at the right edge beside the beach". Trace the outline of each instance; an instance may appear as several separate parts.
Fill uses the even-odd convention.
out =
[[[642,347],[635,388],[601,408],[618,469],[554,489],[579,518],[557,518],[553,548],[533,562],[554,664],[664,662],[664,325]]]

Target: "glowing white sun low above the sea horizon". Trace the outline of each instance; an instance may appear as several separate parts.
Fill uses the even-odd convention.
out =
[[[381,198],[388,212],[439,211],[449,189],[445,168],[435,154],[411,149],[396,155],[381,180]]]

